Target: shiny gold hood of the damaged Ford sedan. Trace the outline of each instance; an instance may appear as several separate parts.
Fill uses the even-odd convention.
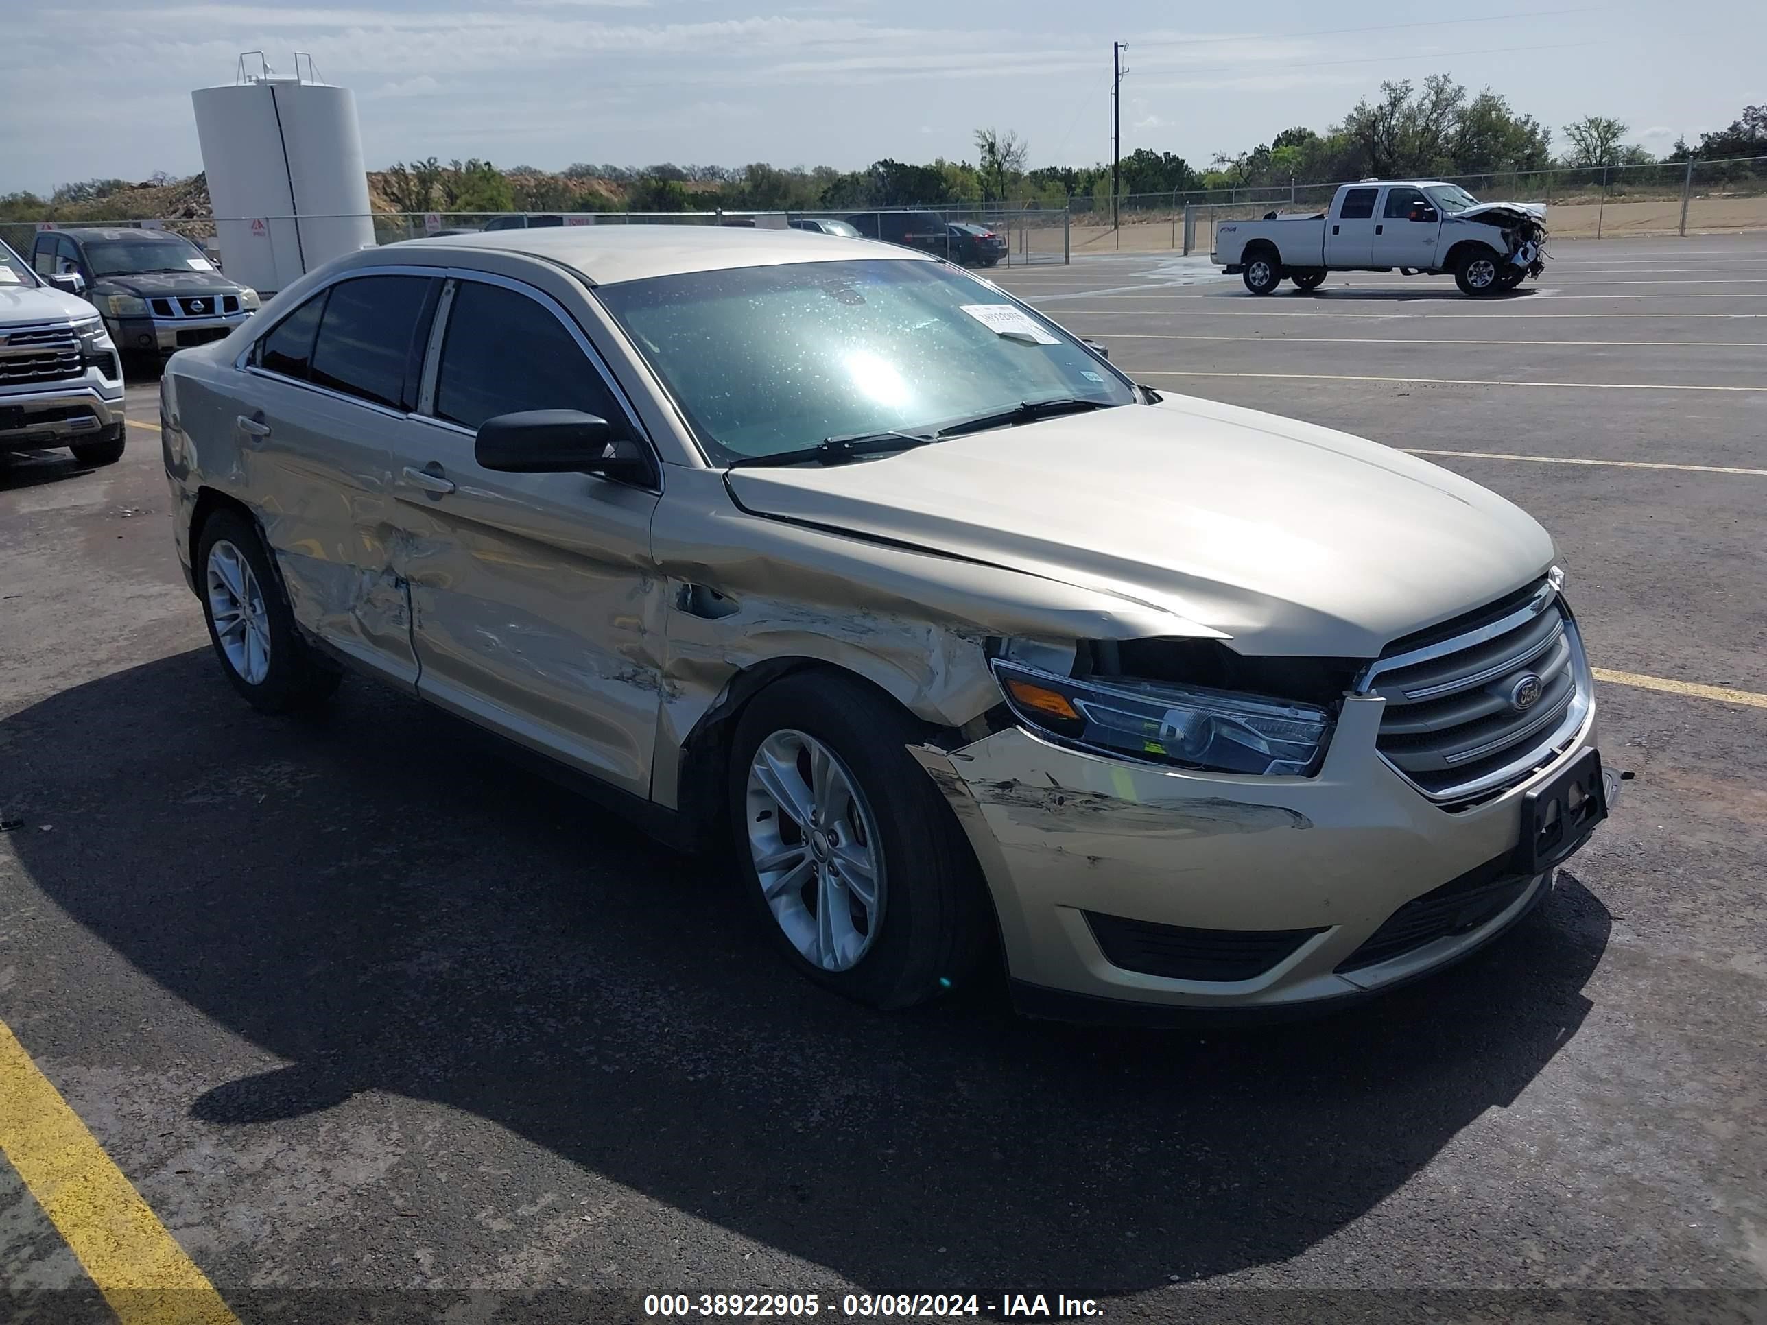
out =
[[[726,484],[753,514],[1103,588],[1251,655],[1373,657],[1553,558],[1527,512],[1456,473],[1182,396]]]

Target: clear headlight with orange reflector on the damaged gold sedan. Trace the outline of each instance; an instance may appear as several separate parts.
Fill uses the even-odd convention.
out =
[[[1237,774],[1309,774],[1331,714],[1302,703],[1127,677],[1057,677],[995,659],[1027,726],[1099,754]]]

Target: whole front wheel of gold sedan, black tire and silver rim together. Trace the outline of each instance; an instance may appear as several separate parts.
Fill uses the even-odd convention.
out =
[[[749,701],[732,746],[730,822],[756,917],[799,973],[880,1009],[940,995],[986,952],[984,885],[949,806],[908,756],[919,738],[919,724],[868,685],[800,671]],[[809,791],[818,781],[820,799]],[[797,813],[783,809],[788,799]],[[767,860],[776,866],[763,885]]]

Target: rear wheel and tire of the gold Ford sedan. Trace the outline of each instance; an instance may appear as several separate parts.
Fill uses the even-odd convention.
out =
[[[311,708],[337,689],[341,673],[300,638],[263,539],[239,511],[216,511],[203,523],[196,594],[221,671],[253,708],[262,714]],[[240,604],[247,610],[239,611]]]

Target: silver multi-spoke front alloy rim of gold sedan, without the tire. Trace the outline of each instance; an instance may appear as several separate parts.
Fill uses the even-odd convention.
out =
[[[846,765],[811,735],[774,731],[755,751],[747,834],[767,908],[804,961],[852,970],[884,924],[876,820]]]

